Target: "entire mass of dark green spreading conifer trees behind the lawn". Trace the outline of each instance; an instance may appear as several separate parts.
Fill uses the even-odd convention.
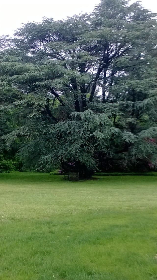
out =
[[[156,168],[156,54],[156,14],[139,1],[1,36],[1,156],[84,175]]]

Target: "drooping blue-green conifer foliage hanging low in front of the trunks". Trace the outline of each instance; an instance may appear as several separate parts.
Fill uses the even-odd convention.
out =
[[[86,110],[72,113],[70,117],[48,128],[50,153],[42,158],[42,165],[49,162],[55,167],[58,163],[64,166],[66,162],[75,162],[95,170],[96,153],[111,153],[110,141],[117,129],[105,113]]]

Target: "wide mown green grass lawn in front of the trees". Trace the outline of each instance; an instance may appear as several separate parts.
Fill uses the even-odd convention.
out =
[[[0,174],[0,280],[157,279],[157,177]]]

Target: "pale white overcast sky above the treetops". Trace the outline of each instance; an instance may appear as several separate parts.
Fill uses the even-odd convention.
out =
[[[22,23],[41,22],[42,17],[52,17],[54,20],[79,14],[81,11],[90,12],[99,0],[1,0],[0,6],[0,36],[12,35],[13,30]],[[131,3],[135,0],[131,0]],[[142,0],[142,5],[157,13],[156,0]]]

